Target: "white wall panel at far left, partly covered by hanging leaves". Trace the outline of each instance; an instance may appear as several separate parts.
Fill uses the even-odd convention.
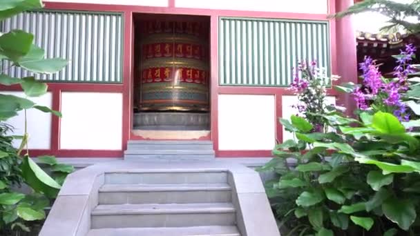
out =
[[[1,91],[2,94],[15,95],[18,97],[26,97],[23,92],[8,92]],[[48,106],[51,108],[53,104],[53,95],[47,92],[41,97],[30,97],[31,101],[34,101],[37,105]],[[30,109],[26,112],[27,127],[29,134],[28,148],[30,149],[50,149],[51,146],[51,114],[41,112],[37,109]],[[6,121],[6,124],[10,124],[15,127],[15,131],[10,135],[23,135],[25,130],[25,115],[24,112],[19,112],[19,116],[13,117]],[[16,148],[20,146],[21,140],[16,139],[13,142],[13,146]]]

